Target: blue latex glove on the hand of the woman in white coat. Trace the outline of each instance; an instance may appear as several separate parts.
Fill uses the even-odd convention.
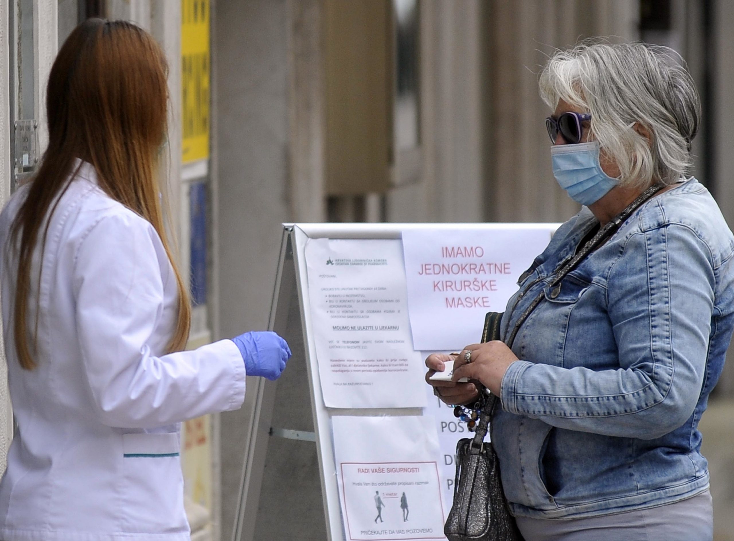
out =
[[[291,358],[291,349],[283,338],[269,330],[244,333],[232,341],[239,348],[248,376],[277,380]]]

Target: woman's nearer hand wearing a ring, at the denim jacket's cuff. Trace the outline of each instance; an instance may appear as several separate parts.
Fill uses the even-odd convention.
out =
[[[465,352],[471,352],[470,363],[464,359]],[[464,348],[454,363],[454,381],[467,377],[469,380],[482,383],[493,395],[500,396],[504,373],[516,360],[512,349],[509,349],[504,342],[495,340],[484,344],[471,344]]]

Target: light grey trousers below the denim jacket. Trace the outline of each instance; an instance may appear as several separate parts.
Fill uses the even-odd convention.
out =
[[[711,541],[711,493],[707,489],[675,504],[603,517],[518,517],[517,527],[526,541]]]

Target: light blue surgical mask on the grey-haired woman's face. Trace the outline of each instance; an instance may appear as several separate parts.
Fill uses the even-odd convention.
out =
[[[599,163],[599,142],[578,145],[554,145],[551,147],[553,175],[568,196],[589,206],[608,194],[619,184],[616,178],[606,175]]]

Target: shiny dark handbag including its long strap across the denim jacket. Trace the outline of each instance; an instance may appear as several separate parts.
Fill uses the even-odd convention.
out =
[[[642,203],[653,197],[663,187],[661,184],[655,184],[645,190],[614,219],[600,228],[593,238],[586,242],[584,247],[581,247],[581,250],[565,258],[547,280],[548,286],[553,288],[551,296],[554,293],[557,294],[556,291],[560,291],[564,277],[575,269],[586,258],[586,255],[606,242]],[[527,286],[525,291],[529,288],[530,286]],[[545,292],[541,292],[517,319],[506,340],[509,348],[512,348],[520,326],[543,299],[545,299]],[[484,319],[482,342],[500,339],[502,315],[498,312],[487,313]],[[491,441],[484,442],[487,427],[490,425],[497,406],[497,398],[484,389],[480,395],[480,401],[483,401],[484,405],[481,406],[482,410],[474,437],[462,438],[457,444],[454,504],[451,506],[451,511],[448,512],[443,533],[448,537],[448,541],[523,541],[515,519],[509,512],[509,506],[502,490],[497,454]],[[476,404],[476,407],[479,407],[479,404]]]

